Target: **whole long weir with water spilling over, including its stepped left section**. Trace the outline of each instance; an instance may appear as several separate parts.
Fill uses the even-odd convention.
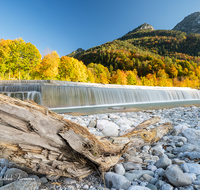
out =
[[[53,80],[0,81],[0,93],[30,99],[48,108],[200,100],[186,87],[92,84]]]

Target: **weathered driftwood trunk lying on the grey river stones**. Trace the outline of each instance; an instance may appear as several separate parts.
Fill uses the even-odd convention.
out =
[[[100,137],[34,102],[0,95],[0,158],[48,175],[81,179],[114,166],[130,148],[159,140],[171,129],[160,118],[138,125],[121,137]]]

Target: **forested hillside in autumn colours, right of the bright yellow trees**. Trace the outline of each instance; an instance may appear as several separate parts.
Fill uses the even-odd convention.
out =
[[[90,63],[107,67],[112,83],[198,88],[199,55],[200,34],[135,29],[117,40],[90,48],[74,57],[88,67]],[[120,78],[120,72],[125,75],[134,72],[136,82],[113,80]]]

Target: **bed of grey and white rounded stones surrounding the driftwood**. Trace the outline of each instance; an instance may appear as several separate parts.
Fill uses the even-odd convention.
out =
[[[99,136],[121,136],[155,116],[161,120],[149,128],[171,122],[174,130],[150,146],[141,149],[133,147],[105,174],[97,171],[81,181],[33,175],[2,159],[0,190],[200,190],[200,107],[88,116],[64,115],[66,119],[87,127],[91,133]]]

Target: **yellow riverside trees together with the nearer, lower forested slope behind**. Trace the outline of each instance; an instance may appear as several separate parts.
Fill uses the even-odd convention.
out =
[[[42,58],[34,45],[21,38],[1,39],[0,78],[199,88],[198,57],[180,53],[177,57],[160,56],[115,40],[85,51],[78,59],[59,57],[56,51]]]

